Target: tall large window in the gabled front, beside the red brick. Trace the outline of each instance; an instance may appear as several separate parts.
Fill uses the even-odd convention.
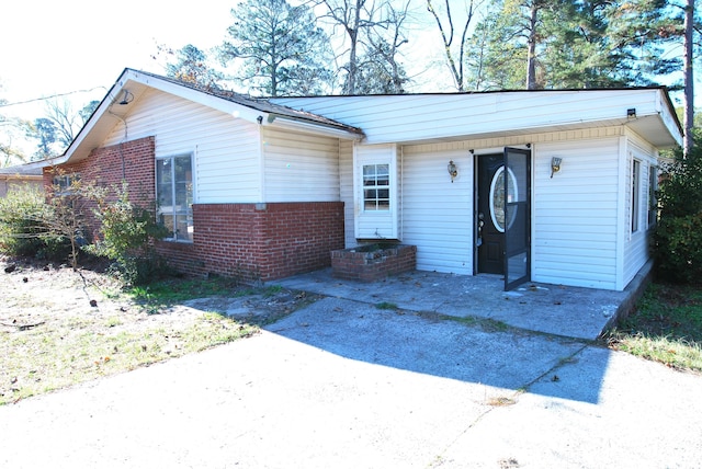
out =
[[[174,241],[193,240],[193,170],[192,156],[156,160],[157,215]]]

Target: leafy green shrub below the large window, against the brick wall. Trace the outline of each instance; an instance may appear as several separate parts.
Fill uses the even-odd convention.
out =
[[[144,285],[165,272],[154,240],[166,237],[168,230],[156,222],[154,211],[132,203],[126,184],[116,193],[115,201],[98,201],[101,239],[86,250],[113,261],[112,272],[127,285]]]

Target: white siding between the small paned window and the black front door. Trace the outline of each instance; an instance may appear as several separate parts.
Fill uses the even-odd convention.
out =
[[[449,161],[458,174],[451,182]],[[403,242],[417,245],[417,268],[473,274],[473,156],[468,150],[405,147]]]

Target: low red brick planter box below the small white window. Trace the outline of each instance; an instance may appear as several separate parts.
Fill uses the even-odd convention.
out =
[[[417,267],[417,247],[397,244],[382,249],[367,247],[331,252],[331,274],[349,281],[375,282]]]

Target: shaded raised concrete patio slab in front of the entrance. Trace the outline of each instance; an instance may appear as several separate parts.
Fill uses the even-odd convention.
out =
[[[335,278],[330,268],[271,282],[332,298],[396,305],[416,312],[482,318],[533,332],[596,340],[626,316],[645,286],[646,265],[624,291],[528,282],[503,291],[499,275],[415,271],[362,283]]]

